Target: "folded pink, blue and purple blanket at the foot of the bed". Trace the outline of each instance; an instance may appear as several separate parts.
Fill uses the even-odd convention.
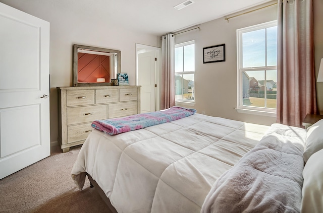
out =
[[[113,135],[178,120],[193,115],[195,112],[195,109],[174,106],[163,111],[141,113],[122,118],[95,120],[92,122],[92,127]]]

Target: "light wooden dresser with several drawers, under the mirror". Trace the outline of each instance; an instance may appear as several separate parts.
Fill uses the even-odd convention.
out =
[[[84,143],[94,120],[140,113],[140,86],[58,87],[63,153]]]

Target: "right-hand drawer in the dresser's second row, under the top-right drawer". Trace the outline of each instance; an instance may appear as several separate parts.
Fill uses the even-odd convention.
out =
[[[138,113],[137,101],[109,104],[109,118],[123,117]]]

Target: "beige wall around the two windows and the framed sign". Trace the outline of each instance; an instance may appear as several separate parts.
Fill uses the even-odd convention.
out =
[[[274,1],[275,3],[277,1]],[[315,68],[318,70],[320,58],[323,57],[323,3],[314,0],[314,45]],[[267,4],[268,5],[268,4]],[[193,107],[198,113],[225,117],[258,124],[270,125],[276,118],[238,113],[237,100],[237,41],[236,30],[239,28],[277,20],[277,6],[272,6],[246,15],[230,19],[229,23],[222,19],[199,25],[198,30],[176,35],[175,43],[195,40],[195,95]],[[203,47],[226,44],[226,61],[203,64]],[[316,73],[317,76],[317,73]],[[323,114],[323,83],[317,83],[318,107]],[[186,106],[186,105],[181,105]]]

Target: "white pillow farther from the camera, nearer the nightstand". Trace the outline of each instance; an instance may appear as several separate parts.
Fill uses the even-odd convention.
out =
[[[311,155],[321,149],[323,149],[323,119],[307,128],[305,150],[303,153],[304,161],[306,162]]]

